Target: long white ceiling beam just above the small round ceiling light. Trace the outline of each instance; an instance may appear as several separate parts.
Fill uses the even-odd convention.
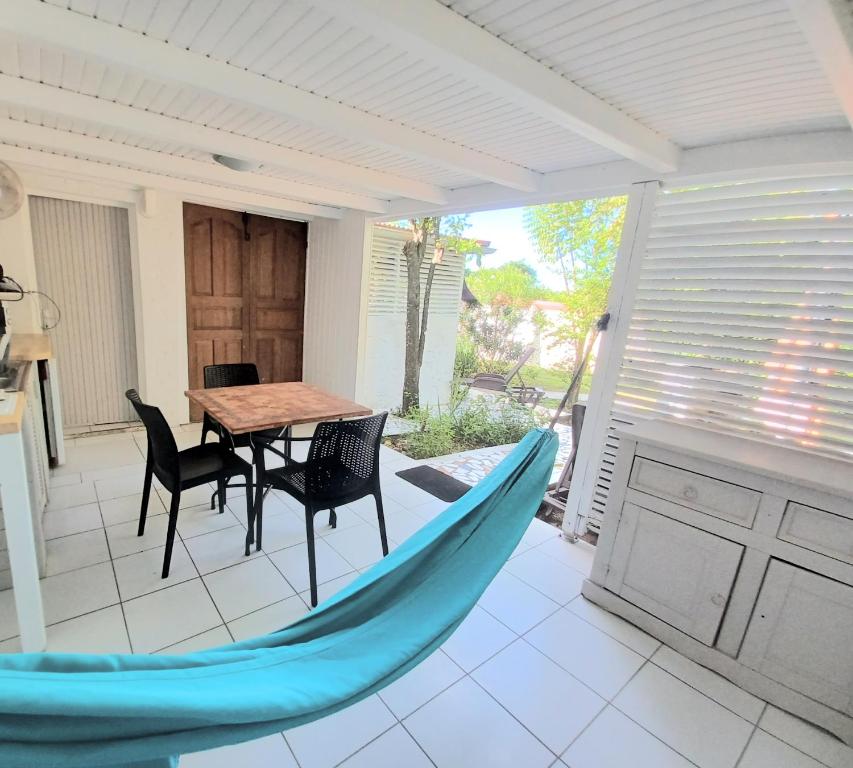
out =
[[[408,197],[436,204],[444,203],[447,199],[446,191],[435,184],[362,168],[20,77],[0,75],[0,102],[108,126],[211,154],[308,173],[318,178],[319,186],[322,186],[322,179],[326,178],[378,193],[386,199]]]

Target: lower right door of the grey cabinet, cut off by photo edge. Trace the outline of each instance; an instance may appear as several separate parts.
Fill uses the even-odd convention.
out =
[[[738,659],[853,715],[851,638],[853,587],[771,560]]]

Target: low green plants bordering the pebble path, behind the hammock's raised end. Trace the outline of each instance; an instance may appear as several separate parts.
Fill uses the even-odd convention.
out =
[[[509,399],[483,397],[457,398],[444,411],[419,408],[407,418],[416,422],[417,429],[387,442],[413,459],[517,443],[540,424],[539,417],[526,406]]]

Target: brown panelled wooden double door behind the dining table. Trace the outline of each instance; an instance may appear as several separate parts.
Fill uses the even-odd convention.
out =
[[[255,363],[262,382],[301,380],[307,235],[304,222],[184,204],[191,388],[218,363]]]

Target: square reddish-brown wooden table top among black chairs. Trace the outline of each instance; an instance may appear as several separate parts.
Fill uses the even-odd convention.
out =
[[[301,381],[190,389],[184,394],[235,435],[373,413]]]

